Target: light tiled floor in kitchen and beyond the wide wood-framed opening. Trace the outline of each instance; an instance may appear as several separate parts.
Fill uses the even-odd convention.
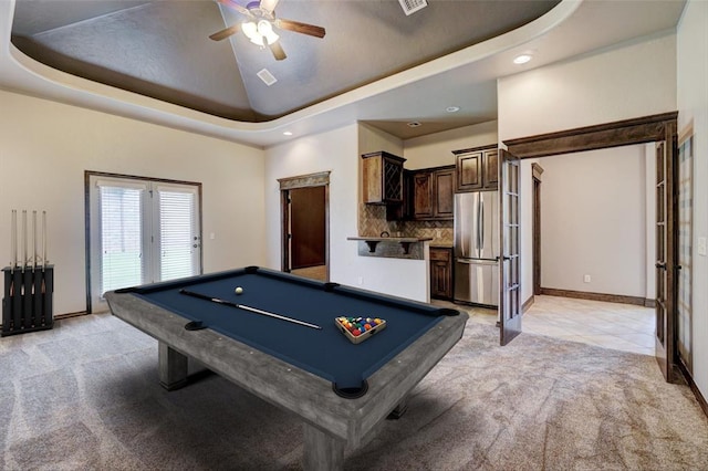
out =
[[[436,303],[438,303],[436,301]],[[496,324],[497,311],[455,305],[475,322]],[[570,297],[535,296],[523,332],[654,355],[654,308]]]

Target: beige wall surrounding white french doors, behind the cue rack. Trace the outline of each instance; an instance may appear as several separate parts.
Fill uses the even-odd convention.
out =
[[[264,262],[262,150],[8,92],[0,109],[0,254],[11,209],[48,211],[54,314],[86,308],[85,170],[201,182],[205,272]]]

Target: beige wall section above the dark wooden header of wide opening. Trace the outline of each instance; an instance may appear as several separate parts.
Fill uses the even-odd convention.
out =
[[[676,111],[676,35],[499,80],[500,140]]]

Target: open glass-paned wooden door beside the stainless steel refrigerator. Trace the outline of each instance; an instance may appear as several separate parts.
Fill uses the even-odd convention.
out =
[[[507,345],[521,333],[520,170],[518,157],[499,150],[500,221],[500,343]]]

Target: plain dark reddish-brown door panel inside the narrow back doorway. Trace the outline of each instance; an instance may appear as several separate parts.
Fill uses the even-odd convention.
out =
[[[290,190],[290,269],[324,265],[325,187]]]

